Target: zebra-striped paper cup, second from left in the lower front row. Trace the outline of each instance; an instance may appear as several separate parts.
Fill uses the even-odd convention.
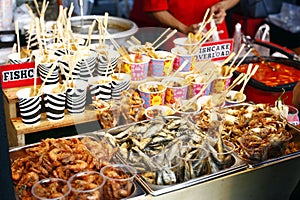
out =
[[[60,91],[56,87],[57,85],[47,85],[44,88],[45,111],[50,121],[61,120],[65,116],[66,91]]]

